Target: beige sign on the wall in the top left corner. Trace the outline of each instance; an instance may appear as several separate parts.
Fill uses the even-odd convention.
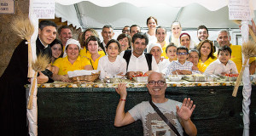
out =
[[[0,0],[0,14],[15,14],[15,1]]]

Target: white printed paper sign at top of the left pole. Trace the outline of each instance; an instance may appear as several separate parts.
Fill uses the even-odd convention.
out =
[[[33,0],[33,13],[38,19],[55,19],[55,1]]]

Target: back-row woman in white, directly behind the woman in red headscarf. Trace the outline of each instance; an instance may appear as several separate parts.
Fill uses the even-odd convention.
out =
[[[178,45],[178,38],[181,34],[182,27],[180,22],[174,21],[171,26],[172,36],[169,39],[169,42],[173,42],[175,45]]]

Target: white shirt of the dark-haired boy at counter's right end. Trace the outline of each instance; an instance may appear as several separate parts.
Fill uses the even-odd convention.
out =
[[[207,70],[204,74],[221,75],[222,72],[230,73],[230,70],[232,71],[232,74],[238,74],[236,64],[232,60],[229,60],[228,63],[224,65],[219,61],[219,59],[216,59],[207,66]]]

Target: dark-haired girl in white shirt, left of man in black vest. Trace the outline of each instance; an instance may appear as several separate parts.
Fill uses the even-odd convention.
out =
[[[119,53],[120,44],[117,40],[110,40],[107,43],[107,54],[99,60],[98,70],[101,71],[100,79],[113,76],[124,76],[126,73],[126,61]]]

